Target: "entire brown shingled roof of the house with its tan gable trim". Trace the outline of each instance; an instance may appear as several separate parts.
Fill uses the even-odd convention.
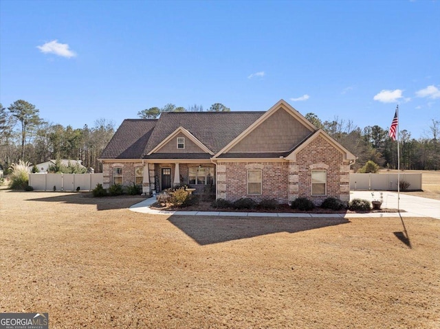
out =
[[[234,146],[255,131],[268,117],[284,110],[306,128],[309,135],[288,151],[236,152]],[[157,152],[171,139],[184,134],[200,152]],[[245,112],[168,112],[159,119],[126,119],[113,135],[100,159],[215,159],[215,158],[283,158],[295,160],[296,154],[311,141],[322,136],[337,148],[345,159],[355,156],[316,128],[296,109],[280,100],[269,111]],[[250,137],[249,137],[250,138]],[[232,150],[232,152],[228,152]]]

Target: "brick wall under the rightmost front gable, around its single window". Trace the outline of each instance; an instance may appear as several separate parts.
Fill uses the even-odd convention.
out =
[[[311,196],[311,170],[327,170],[327,195]],[[289,171],[289,198],[306,197],[316,205],[320,205],[325,198],[333,196],[348,202],[350,198],[349,187],[349,161],[344,161],[344,156],[331,146],[322,137],[301,150],[296,155],[296,163],[290,166]]]

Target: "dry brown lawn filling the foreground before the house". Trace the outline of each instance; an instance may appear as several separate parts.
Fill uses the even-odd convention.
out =
[[[0,312],[50,328],[440,328],[440,221],[131,212],[0,190]]]

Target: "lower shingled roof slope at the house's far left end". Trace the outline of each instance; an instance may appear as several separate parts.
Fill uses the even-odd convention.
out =
[[[102,151],[100,159],[140,159],[157,119],[126,119]]]

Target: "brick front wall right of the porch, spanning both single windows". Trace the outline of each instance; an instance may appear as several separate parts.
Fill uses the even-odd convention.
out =
[[[262,194],[248,194],[248,169],[261,169]],[[326,170],[327,194],[311,195],[311,171]],[[274,198],[279,203],[291,203],[298,197],[309,198],[320,205],[333,196],[348,202],[349,161],[329,142],[318,137],[296,155],[296,162],[219,162],[217,166],[217,198],[235,201],[252,198],[254,201]]]

